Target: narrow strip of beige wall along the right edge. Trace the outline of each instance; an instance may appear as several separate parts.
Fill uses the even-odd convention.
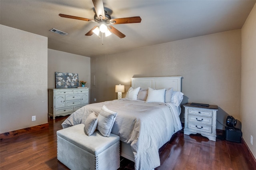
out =
[[[241,118],[243,138],[256,158],[256,5],[242,28]],[[253,136],[253,145],[250,143]]]

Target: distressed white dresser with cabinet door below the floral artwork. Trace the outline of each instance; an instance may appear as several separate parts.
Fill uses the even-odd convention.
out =
[[[70,115],[89,104],[89,88],[48,89],[48,115]]]

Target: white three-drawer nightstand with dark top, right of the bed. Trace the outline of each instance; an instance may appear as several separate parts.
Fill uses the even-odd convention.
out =
[[[200,133],[209,140],[216,141],[216,114],[218,106],[209,105],[209,107],[201,107],[187,103],[184,105],[184,108],[184,134]]]

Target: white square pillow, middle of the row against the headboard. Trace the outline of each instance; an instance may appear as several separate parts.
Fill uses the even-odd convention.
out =
[[[151,102],[164,103],[164,93],[165,93],[165,89],[156,90],[148,87],[148,97],[147,97],[146,103],[151,103]]]

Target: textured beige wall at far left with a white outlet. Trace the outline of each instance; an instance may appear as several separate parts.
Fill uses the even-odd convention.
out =
[[[0,133],[48,123],[47,38],[0,25],[0,43]]]

